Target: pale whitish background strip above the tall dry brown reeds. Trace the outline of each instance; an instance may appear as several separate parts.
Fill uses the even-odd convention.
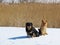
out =
[[[60,0],[0,0],[3,3],[20,3],[20,2],[38,2],[38,3],[60,3]]]

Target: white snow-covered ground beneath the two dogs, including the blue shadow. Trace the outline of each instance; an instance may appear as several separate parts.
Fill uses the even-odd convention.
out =
[[[47,28],[47,32],[46,36],[28,38],[25,28],[0,27],[0,45],[60,45],[60,29]]]

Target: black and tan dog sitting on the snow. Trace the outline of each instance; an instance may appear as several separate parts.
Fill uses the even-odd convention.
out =
[[[39,32],[33,27],[33,24],[28,22],[26,23],[26,33],[30,37],[38,37]]]

